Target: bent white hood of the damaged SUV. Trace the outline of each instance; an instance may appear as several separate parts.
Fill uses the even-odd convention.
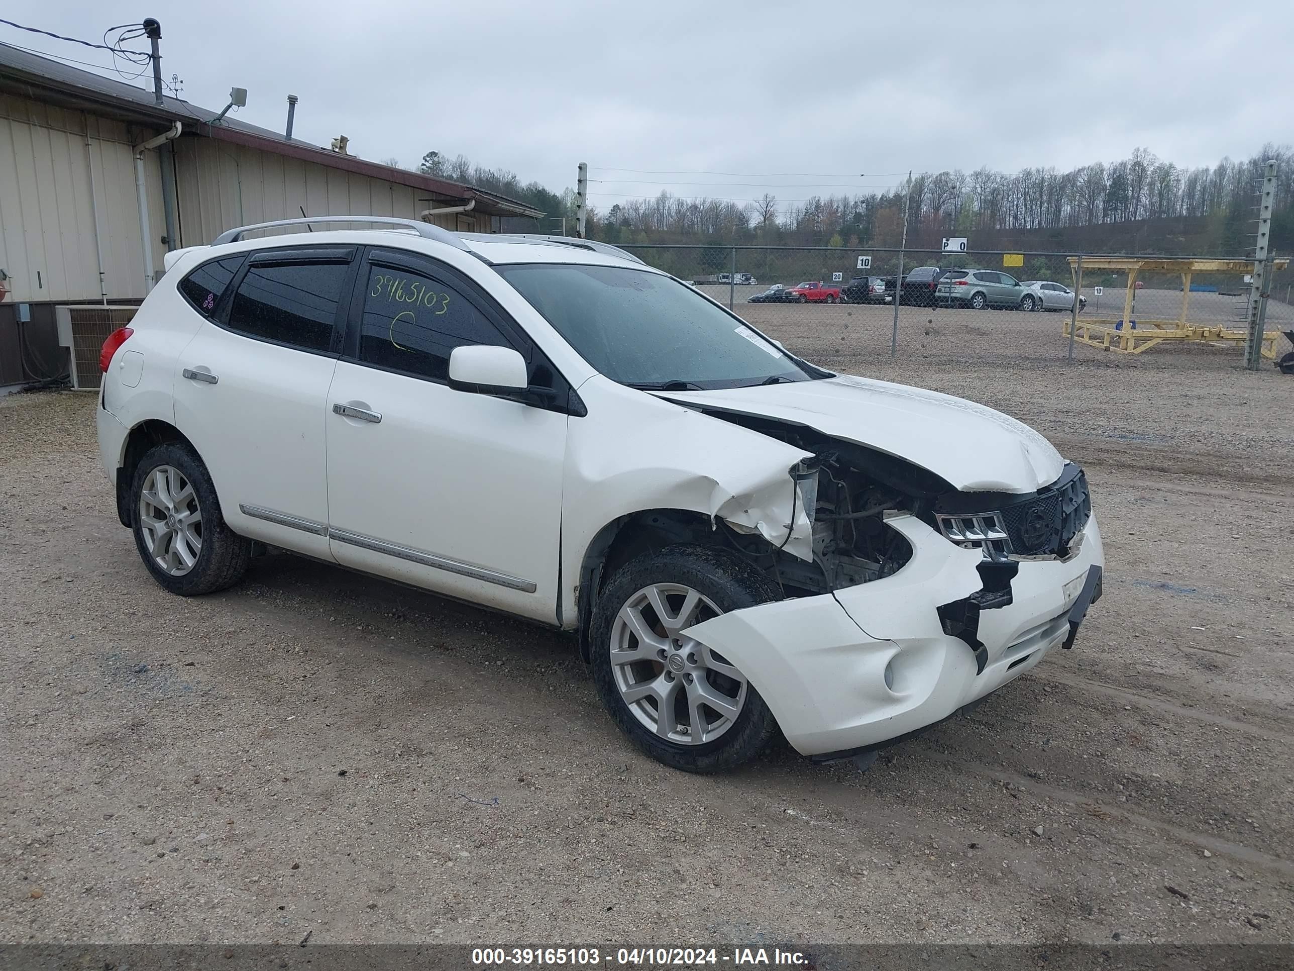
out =
[[[804,425],[929,469],[968,492],[1034,492],[1065,460],[1024,422],[937,391],[839,375],[725,391],[656,392],[679,404]]]

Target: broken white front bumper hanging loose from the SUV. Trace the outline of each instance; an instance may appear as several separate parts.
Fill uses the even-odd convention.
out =
[[[939,607],[985,592],[980,550],[911,515],[886,522],[912,545],[892,576],[736,610],[687,631],[741,669],[802,755],[827,760],[880,746],[1029,671],[1070,636],[1075,603],[1093,594],[1091,567],[1104,564],[1093,517],[1069,559],[1018,564],[1008,605],[982,597],[967,640]]]

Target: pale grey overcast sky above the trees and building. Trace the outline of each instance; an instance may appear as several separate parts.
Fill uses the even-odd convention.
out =
[[[1294,49],[1294,0],[4,8],[96,43],[158,17],[163,75],[179,74],[189,101],[219,110],[245,87],[238,117],[282,129],[292,92],[296,137],[344,133],[353,154],[410,167],[428,149],[463,153],[554,190],[584,161],[602,208],[661,189],[792,201],[893,185],[908,168],[1065,170],[1139,145],[1211,164],[1294,141],[1276,70]],[[0,40],[111,61],[4,25]],[[811,175],[765,176],[784,172]]]

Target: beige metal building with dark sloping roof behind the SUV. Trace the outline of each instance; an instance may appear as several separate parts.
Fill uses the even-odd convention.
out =
[[[137,303],[168,250],[236,225],[304,211],[497,232],[542,215],[219,114],[0,44],[0,387],[66,372],[56,304]]]

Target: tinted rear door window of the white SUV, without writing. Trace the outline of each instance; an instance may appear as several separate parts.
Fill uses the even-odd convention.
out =
[[[344,263],[254,264],[234,294],[229,329],[326,352],[345,273]]]

